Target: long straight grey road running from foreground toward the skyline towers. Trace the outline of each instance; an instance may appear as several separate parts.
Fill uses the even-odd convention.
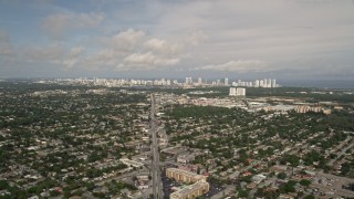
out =
[[[159,154],[158,154],[158,142],[157,142],[157,125],[155,118],[155,97],[154,94],[150,95],[152,98],[152,109],[150,109],[150,133],[152,133],[152,153],[153,153],[153,161],[152,161],[152,175],[153,175],[153,195],[154,198],[163,198],[163,189],[162,189],[162,178],[159,171]]]

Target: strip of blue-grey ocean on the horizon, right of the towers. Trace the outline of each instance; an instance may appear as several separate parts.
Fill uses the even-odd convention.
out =
[[[354,80],[277,80],[284,87],[351,88]]]

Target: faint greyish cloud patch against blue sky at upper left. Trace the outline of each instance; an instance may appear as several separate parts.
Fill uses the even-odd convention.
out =
[[[42,21],[42,28],[53,39],[63,39],[67,32],[97,27],[104,14],[90,13],[55,13],[48,15]]]

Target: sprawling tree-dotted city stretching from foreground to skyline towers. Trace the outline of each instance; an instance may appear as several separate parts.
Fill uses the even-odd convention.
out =
[[[0,198],[354,198],[354,91],[1,81]]]

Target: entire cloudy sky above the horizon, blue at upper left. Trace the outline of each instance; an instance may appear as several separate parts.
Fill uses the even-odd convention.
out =
[[[0,77],[351,80],[353,0],[0,0]]]

